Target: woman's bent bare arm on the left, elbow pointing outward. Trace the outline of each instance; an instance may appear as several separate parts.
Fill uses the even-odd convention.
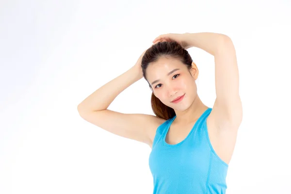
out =
[[[141,56],[142,57],[142,56]],[[126,88],[142,78],[137,64],[109,81],[78,105],[80,116],[113,134],[148,144],[151,147],[157,127],[163,120],[149,114],[118,113],[107,108]]]

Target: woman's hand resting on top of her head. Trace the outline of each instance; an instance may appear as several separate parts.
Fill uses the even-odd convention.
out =
[[[189,49],[192,46],[189,45],[187,42],[187,38],[189,36],[189,33],[167,33],[159,35],[155,40],[153,41],[154,44],[157,44],[158,42],[177,42],[183,49]]]

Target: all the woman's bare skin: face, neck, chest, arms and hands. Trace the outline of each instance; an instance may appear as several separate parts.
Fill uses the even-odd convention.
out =
[[[186,33],[183,36],[165,34],[155,41],[167,39],[168,36],[174,40],[177,37],[183,40],[185,38],[187,47],[197,47],[214,56],[216,99],[207,118],[207,129],[213,149],[228,164],[242,122],[242,101],[239,95],[239,73],[234,45],[228,36],[210,32]],[[102,129],[144,142],[152,147],[156,129],[164,119],[149,114],[125,114],[107,109],[120,92],[143,77],[141,69],[143,54],[136,65],[84,99],[78,105],[78,112],[82,118]],[[175,68],[180,70],[167,76],[167,73]],[[189,73],[187,66],[180,61],[161,57],[159,61],[148,66],[146,73],[150,83],[160,79],[158,83],[152,85],[152,90],[156,97],[172,107],[177,114],[166,136],[167,143],[177,144],[188,135],[194,122],[208,108],[197,95],[195,81],[198,69],[193,63]],[[180,75],[175,76],[176,74]],[[160,85],[156,87],[158,84]],[[185,97],[181,102],[171,103],[182,94],[185,94]],[[113,120],[116,122],[112,122]]]

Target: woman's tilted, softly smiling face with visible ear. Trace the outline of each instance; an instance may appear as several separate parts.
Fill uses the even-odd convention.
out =
[[[157,62],[148,65],[146,78],[155,96],[163,104],[183,111],[191,106],[197,95],[195,80],[198,77],[198,69],[194,63],[192,67],[189,72],[187,66],[178,59],[160,57]],[[178,103],[172,102],[182,95],[184,97]]]

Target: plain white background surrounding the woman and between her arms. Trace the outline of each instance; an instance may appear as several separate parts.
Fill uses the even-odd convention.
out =
[[[243,121],[226,194],[291,194],[291,1],[2,0],[0,194],[151,194],[150,147],[83,120],[77,106],[164,33],[217,32],[236,48]],[[202,101],[214,57],[188,49]],[[109,109],[153,114],[144,79]]]

